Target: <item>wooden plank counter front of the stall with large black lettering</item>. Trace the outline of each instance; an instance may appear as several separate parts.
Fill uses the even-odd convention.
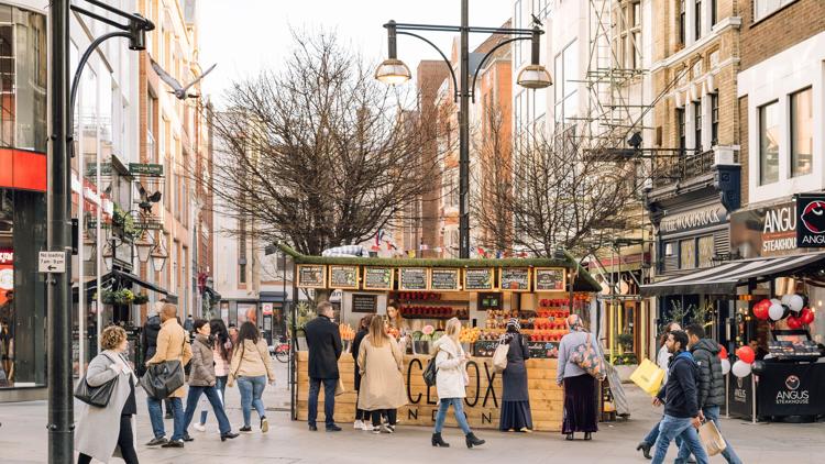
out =
[[[307,396],[309,378],[307,375],[308,353],[297,353],[297,415],[298,420],[307,420]],[[407,405],[398,409],[398,420],[403,424],[431,427],[436,423],[438,396],[436,387],[427,387],[421,374],[429,356],[404,356],[404,384],[407,391]],[[353,387],[354,362],[350,353],[344,353],[338,362],[346,393],[336,398],[336,421],[339,423],[355,420],[356,395]],[[556,385],[557,360],[528,360],[527,382],[530,394],[534,429],[537,431],[561,431],[564,397],[561,387]],[[495,374],[491,357],[472,357],[468,363],[470,385],[466,388],[464,411],[470,427],[476,429],[497,429],[502,407],[502,376]],[[323,420],[323,393],[318,398],[319,418]],[[457,427],[452,411],[448,415],[447,424]]]

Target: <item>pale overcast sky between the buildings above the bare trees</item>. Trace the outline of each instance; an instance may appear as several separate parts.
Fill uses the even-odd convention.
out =
[[[289,27],[338,31],[343,43],[358,48],[366,59],[378,63],[386,55],[388,20],[408,23],[458,25],[459,0],[200,0],[200,59],[204,68],[218,67],[204,79],[207,95],[220,104],[220,93],[232,81],[256,75],[261,69],[283,66],[290,47]],[[470,24],[498,26],[512,15],[509,0],[471,0]],[[444,54],[450,53],[449,33],[424,35]],[[484,37],[471,36],[470,45]],[[415,68],[421,59],[437,59],[438,53],[414,37],[398,37],[398,57]]]

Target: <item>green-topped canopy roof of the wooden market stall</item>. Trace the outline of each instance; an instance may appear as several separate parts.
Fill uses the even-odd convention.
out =
[[[293,257],[295,264],[343,264],[350,266],[387,266],[387,267],[563,267],[578,269],[573,285],[574,291],[601,291],[602,286],[566,251],[563,258],[503,258],[503,259],[421,259],[394,257],[358,257],[358,256],[309,256],[278,243],[278,247]]]

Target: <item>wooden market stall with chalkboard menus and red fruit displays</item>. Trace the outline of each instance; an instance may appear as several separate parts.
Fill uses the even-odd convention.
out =
[[[431,343],[443,336],[446,322],[455,317],[464,327],[460,341],[473,356],[465,400],[470,423],[496,428],[502,386],[491,357],[506,321],[518,318],[534,357],[527,369],[535,429],[561,429],[563,391],[554,377],[558,344],[566,333],[564,318],[575,312],[590,320],[592,295],[601,288],[569,254],[530,259],[399,259],[305,256],[282,248],[295,262],[296,290],[342,291],[337,319],[345,341],[354,335],[353,328],[363,316],[386,316],[387,305],[398,309],[400,323],[394,334],[407,352],[408,405],[399,410],[405,423],[430,426],[435,421],[436,390],[424,384],[421,374]],[[298,330],[293,327],[294,333]],[[293,418],[304,420],[307,353],[298,352],[294,358]],[[336,417],[349,421],[355,413],[352,356],[341,356],[339,366],[348,393],[337,398]]]

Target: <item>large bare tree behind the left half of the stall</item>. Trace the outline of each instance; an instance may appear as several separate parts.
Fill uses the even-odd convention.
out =
[[[422,159],[433,135],[361,56],[334,34],[293,36],[284,70],[235,84],[213,119],[215,195],[245,233],[318,255],[388,225],[439,159]]]

